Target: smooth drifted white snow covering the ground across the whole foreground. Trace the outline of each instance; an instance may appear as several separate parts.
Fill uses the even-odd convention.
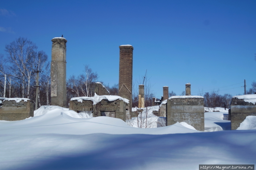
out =
[[[200,132],[180,123],[141,129],[117,118],[78,119],[68,116],[70,110],[48,110],[0,121],[1,170],[196,170],[199,164],[256,163],[256,130]],[[205,114],[221,120],[221,112]]]

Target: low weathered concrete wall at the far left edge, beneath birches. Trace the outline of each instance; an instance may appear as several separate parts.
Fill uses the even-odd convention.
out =
[[[0,107],[0,120],[16,121],[34,116],[34,104],[30,100],[16,103],[15,101],[4,101]]]

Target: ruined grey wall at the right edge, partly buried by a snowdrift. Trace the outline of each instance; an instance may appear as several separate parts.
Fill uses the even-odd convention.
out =
[[[231,130],[236,130],[246,116],[256,116],[256,105],[244,102],[243,99],[232,98],[229,113]]]

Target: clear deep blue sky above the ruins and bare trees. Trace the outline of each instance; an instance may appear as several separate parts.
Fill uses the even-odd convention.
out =
[[[133,81],[140,84],[147,70],[157,98],[163,86],[180,95],[188,82],[192,95],[220,89],[235,96],[243,94],[244,79],[247,89],[256,81],[255,8],[254,0],[1,0],[0,53],[26,37],[51,60],[51,39],[63,34],[67,78],[89,65],[112,86],[118,83],[119,46],[130,44]]]

